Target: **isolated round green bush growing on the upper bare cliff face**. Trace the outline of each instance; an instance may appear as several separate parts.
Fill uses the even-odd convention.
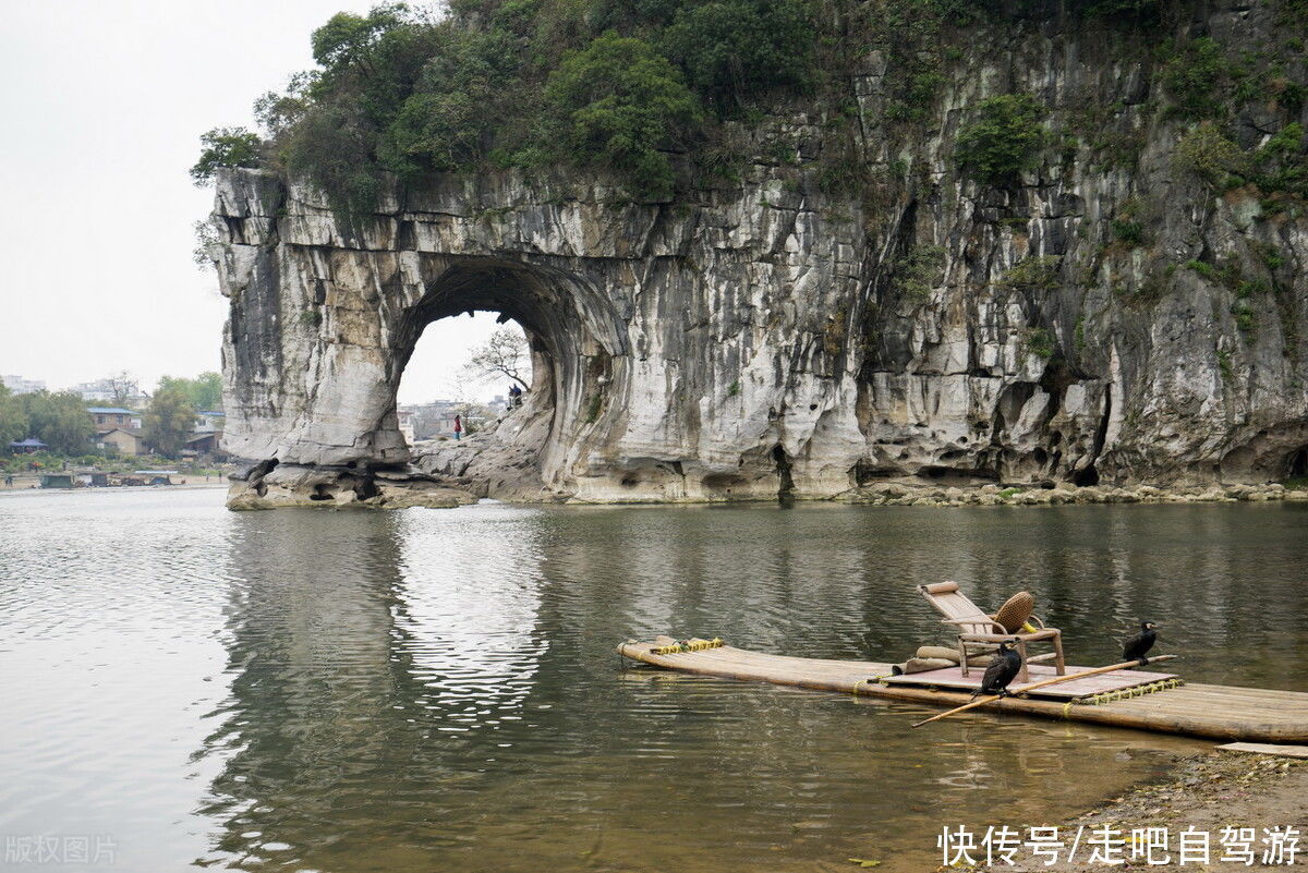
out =
[[[981,101],[976,120],[959,131],[955,161],[982,184],[1016,182],[1045,145],[1045,107],[1031,94],[1001,94]]]

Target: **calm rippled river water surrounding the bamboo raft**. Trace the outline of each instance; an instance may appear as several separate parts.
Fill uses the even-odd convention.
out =
[[[118,869],[934,866],[1203,744],[624,669],[657,633],[816,657],[942,638],[922,582],[1028,588],[1074,663],[1308,690],[1305,504],[232,514],[0,495],[0,836]],[[106,869],[107,857],[86,869]],[[4,866],[0,864],[0,866]],[[78,869],[77,865],[64,869]]]

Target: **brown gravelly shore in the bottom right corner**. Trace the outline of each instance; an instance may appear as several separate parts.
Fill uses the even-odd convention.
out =
[[[1262,863],[1265,851],[1274,851],[1270,843],[1264,843],[1267,834],[1264,829],[1303,829],[1308,821],[1308,761],[1278,755],[1250,754],[1215,749],[1210,753],[1180,757],[1167,776],[1158,783],[1142,785],[1134,791],[1114,797],[1103,806],[1058,825],[1058,839],[1071,844],[1080,832],[1080,851],[1075,863],[1067,863],[1066,849],[1059,860],[1045,865],[1045,859],[1032,857],[1029,849],[1018,852],[1016,864],[993,864],[990,866],[942,866],[939,870],[973,869],[1008,873],[1033,873],[1035,870],[1054,870],[1056,873],[1103,873],[1113,869],[1101,860],[1088,863],[1093,846],[1087,840],[1095,831],[1103,829],[1116,831],[1125,842],[1116,857],[1125,864],[1116,866],[1147,866],[1151,870],[1245,870],[1250,869],[1239,857],[1244,851],[1243,836],[1237,831],[1223,832],[1223,829],[1253,829],[1253,840],[1248,851],[1253,853],[1252,869],[1283,868],[1275,857]],[[1131,835],[1135,829],[1164,829],[1168,836],[1167,847],[1154,849],[1154,864],[1144,856],[1144,843],[1141,855],[1131,857]],[[1209,834],[1209,864],[1194,859],[1180,864],[1180,834]],[[1025,831],[1023,830],[1023,839]],[[1158,836],[1158,834],[1156,834]],[[980,838],[978,838],[980,844]],[[1294,859],[1295,866],[1305,860],[1304,836],[1299,835],[1300,848]],[[981,849],[984,855],[984,849]],[[1169,861],[1159,864],[1164,857]],[[1084,859],[1084,860],[1080,860]]]

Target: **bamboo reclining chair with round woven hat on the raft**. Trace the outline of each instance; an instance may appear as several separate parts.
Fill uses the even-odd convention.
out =
[[[972,653],[978,651],[993,651],[998,643],[1006,639],[1018,640],[1018,652],[1022,655],[1022,672],[1018,673],[1018,682],[1029,681],[1027,664],[1053,660],[1058,676],[1067,672],[1067,665],[1062,656],[1062,631],[1057,627],[1045,627],[1045,623],[1031,614],[1035,599],[1025,591],[1014,595],[999,608],[994,616],[988,616],[967,595],[959,591],[956,582],[938,582],[934,585],[918,585],[917,589],[930,601],[935,609],[944,616],[942,623],[954,625],[959,633],[959,665],[963,676],[968,674],[968,650]],[[1033,626],[1033,631],[1023,627]],[[1027,643],[1049,640],[1054,651],[1045,655],[1027,657]]]

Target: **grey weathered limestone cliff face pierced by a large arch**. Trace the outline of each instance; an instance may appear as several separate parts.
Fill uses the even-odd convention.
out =
[[[1206,26],[1253,41],[1274,26],[1258,14]],[[914,127],[883,118],[872,52],[853,81],[861,192],[823,184],[837,144],[802,111],[735,131],[742,178],[675,204],[500,173],[395,186],[341,218],[303,184],[224,171],[225,439],[251,461],[233,501],[336,504],[416,470],[602,502],[1303,473],[1304,209],[1179,169],[1188,125],[1156,111],[1147,54],[1046,30],[978,37]],[[968,106],[1012,90],[1052,107],[1061,145],[984,188],[952,144]],[[1125,152],[1069,132],[1087,99]],[[494,433],[413,459],[400,374],[426,324],[470,310],[525,325],[535,384]]]

